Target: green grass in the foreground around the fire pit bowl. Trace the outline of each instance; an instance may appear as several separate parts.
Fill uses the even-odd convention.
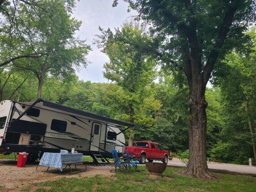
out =
[[[215,180],[200,180],[176,174],[167,168],[163,178],[151,179],[145,167],[140,173],[118,172],[112,177],[62,178],[38,184],[36,192],[255,192],[256,178],[215,174]]]

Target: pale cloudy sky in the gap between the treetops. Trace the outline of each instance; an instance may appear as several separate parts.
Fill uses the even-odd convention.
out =
[[[95,35],[100,34],[98,27],[103,29],[108,27],[111,30],[121,26],[125,21],[129,21],[133,13],[128,13],[128,4],[119,0],[117,7],[112,7],[113,0],[80,0],[77,1],[73,17],[82,21],[80,30],[76,35],[80,39],[86,40],[91,45],[92,51],[88,54],[86,69],[77,72],[80,80],[91,82],[107,82],[103,76],[103,65],[109,61],[104,53],[101,53],[96,45],[93,45]]]

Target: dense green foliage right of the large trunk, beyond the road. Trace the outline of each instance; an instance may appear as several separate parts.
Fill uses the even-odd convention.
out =
[[[248,163],[253,157],[252,140],[255,135],[256,103],[256,33],[250,33],[254,47],[247,54],[232,52],[226,56],[215,84],[220,87],[223,128],[221,139],[211,150],[212,156],[225,162]],[[247,107],[247,111],[246,108]],[[250,132],[250,120],[253,133]]]

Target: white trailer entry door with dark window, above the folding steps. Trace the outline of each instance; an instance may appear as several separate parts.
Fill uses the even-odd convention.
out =
[[[90,151],[98,151],[99,150],[100,132],[101,132],[101,124],[97,123],[97,122],[93,122]]]

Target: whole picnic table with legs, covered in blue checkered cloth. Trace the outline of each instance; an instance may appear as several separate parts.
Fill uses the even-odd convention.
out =
[[[83,161],[82,153],[74,153],[74,154],[44,153],[42,158],[40,159],[39,165],[37,165],[37,171],[38,171],[38,166],[48,167],[46,171],[48,171],[50,167],[58,168],[61,172],[65,168],[69,167],[70,168],[69,174],[71,174],[72,165],[74,165],[76,170],[78,170],[78,167],[80,171],[86,170],[86,165],[85,165],[85,161]]]

